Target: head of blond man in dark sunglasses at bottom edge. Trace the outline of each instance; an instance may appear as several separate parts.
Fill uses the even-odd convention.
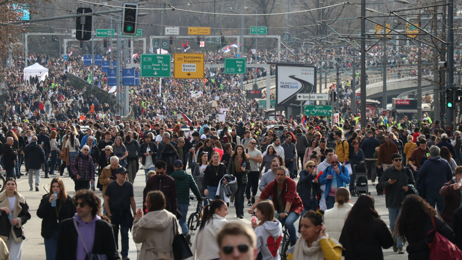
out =
[[[239,222],[223,226],[217,235],[220,260],[254,260],[257,257],[257,237],[253,229]]]

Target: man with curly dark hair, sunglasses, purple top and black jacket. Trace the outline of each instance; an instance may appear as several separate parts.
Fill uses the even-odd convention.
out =
[[[59,225],[55,259],[76,260],[77,255],[87,255],[85,249],[77,251],[77,241],[93,236],[89,251],[93,254],[105,254],[107,260],[120,260],[112,226],[107,222],[107,217],[100,213],[101,200],[98,195],[93,191],[80,189],[72,201],[77,205],[77,213]],[[78,235],[75,225],[79,227],[81,236]]]

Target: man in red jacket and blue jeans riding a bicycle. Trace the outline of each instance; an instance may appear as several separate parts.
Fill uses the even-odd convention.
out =
[[[254,213],[257,204],[270,196],[272,198],[274,209],[279,214],[278,220],[282,226],[287,226],[289,233],[290,246],[294,245],[297,241],[297,234],[295,231],[295,221],[297,221],[301,212],[303,212],[303,203],[298,196],[296,189],[297,184],[291,178],[285,175],[286,168],[279,166],[276,168],[276,179],[271,181],[261,192],[258,200],[248,210],[249,214]]]

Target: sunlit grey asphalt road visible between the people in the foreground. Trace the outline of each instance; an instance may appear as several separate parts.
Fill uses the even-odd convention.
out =
[[[21,172],[25,172],[24,166],[21,169]],[[191,173],[191,170],[188,169],[188,173]],[[41,223],[42,219],[37,217],[37,209],[40,204],[40,200],[44,194],[47,193],[49,190],[49,184],[52,180],[52,178],[49,179],[44,179],[43,177],[45,174],[42,172],[42,179],[40,182],[40,191],[29,191],[29,183],[28,183],[28,176],[22,176],[20,179],[17,180],[18,183],[18,191],[26,198],[27,203],[29,204],[30,207],[30,212],[32,215],[31,220],[29,220],[25,227],[25,235],[27,237],[27,240],[24,241],[23,243],[23,259],[27,260],[43,260],[45,259],[45,245],[44,245],[44,240],[43,237],[41,236]],[[57,175],[51,175],[52,177],[55,177]],[[59,175],[58,175],[59,176]],[[69,193],[70,196],[72,196],[74,192],[74,182],[72,179],[70,179],[67,176],[67,171],[65,170],[64,176],[62,177],[66,191]],[[35,178],[34,178],[34,183],[35,183]],[[135,201],[136,201],[136,207],[139,208],[141,207],[142,204],[142,193],[143,189],[145,186],[145,178],[144,178],[144,170],[140,169],[138,171],[137,177],[135,178],[134,181],[134,195],[135,195]],[[375,192],[375,188],[372,186],[372,184],[369,183],[369,190],[371,191],[371,195],[375,198],[375,208],[380,214],[381,218],[389,224],[388,221],[388,210],[385,207],[385,196],[377,196],[377,193]],[[101,192],[97,190],[97,193],[101,196]],[[259,196],[259,193],[257,194],[257,198]],[[192,194],[192,192],[191,192]],[[352,197],[351,203],[354,203],[356,201],[356,197]],[[188,211],[188,217],[192,212],[195,212],[197,204],[195,203],[196,201],[192,202],[189,211]],[[245,202],[245,207],[244,207],[244,218],[239,219],[236,217],[236,211],[234,208],[229,208],[229,215],[227,216],[228,222],[243,222],[245,224],[250,225],[250,221],[252,217],[247,213],[247,209],[249,207],[247,206],[247,202]],[[298,225],[298,221],[296,223]],[[140,244],[135,244],[133,242],[133,239],[131,238],[131,233],[129,233],[129,257],[131,260],[137,258],[137,250],[141,247]],[[118,239],[119,247],[120,247],[120,234],[119,234],[119,239]],[[405,254],[398,254],[397,252],[393,252],[393,250],[386,249],[384,250],[384,258],[385,259],[407,259],[407,253]]]

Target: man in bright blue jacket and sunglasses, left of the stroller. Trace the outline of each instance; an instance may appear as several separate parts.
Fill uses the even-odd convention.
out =
[[[335,204],[335,192],[339,187],[347,187],[350,183],[348,168],[340,165],[339,156],[336,154],[331,157],[331,165],[319,177],[320,185],[326,185],[326,206],[331,209]]]

